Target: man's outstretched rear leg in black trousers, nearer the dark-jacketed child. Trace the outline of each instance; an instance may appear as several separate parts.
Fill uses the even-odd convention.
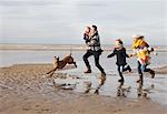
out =
[[[99,56],[100,56],[100,54],[99,54],[98,52],[96,52],[96,53],[94,54],[95,64],[96,64],[96,66],[101,71],[101,73],[106,75],[106,73],[105,73],[105,71],[104,71],[104,69],[102,69],[102,66],[99,64]]]

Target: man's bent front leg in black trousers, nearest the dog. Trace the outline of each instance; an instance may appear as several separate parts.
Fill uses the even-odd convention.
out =
[[[87,66],[87,71],[85,72],[85,73],[91,73],[91,68],[90,68],[90,64],[89,64],[89,61],[88,61],[88,58],[89,56],[91,56],[92,55],[92,53],[90,52],[90,51],[87,51],[87,53],[82,56],[82,59],[84,59],[84,62],[85,62],[85,64],[86,64],[86,66]]]

